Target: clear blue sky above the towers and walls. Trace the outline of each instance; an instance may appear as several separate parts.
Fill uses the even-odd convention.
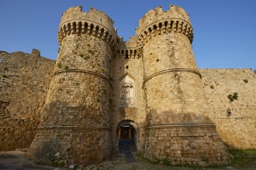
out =
[[[106,12],[128,40],[150,9],[165,11],[170,4],[189,12],[199,68],[256,69],[256,0],[1,0],[0,50],[40,49],[41,56],[56,59],[61,14],[71,6]]]

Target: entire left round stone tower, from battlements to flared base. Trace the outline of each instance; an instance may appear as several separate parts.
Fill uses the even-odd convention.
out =
[[[90,12],[81,12],[81,6],[69,8],[62,15],[58,42],[54,75],[29,155],[45,163],[102,162],[112,152],[109,77],[116,49],[112,19],[94,8]]]

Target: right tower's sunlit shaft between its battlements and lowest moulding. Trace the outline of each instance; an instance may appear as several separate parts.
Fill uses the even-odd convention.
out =
[[[199,105],[204,106],[200,76],[186,36],[169,33],[150,39],[144,46],[150,124],[204,122],[207,117],[195,115],[202,113]]]

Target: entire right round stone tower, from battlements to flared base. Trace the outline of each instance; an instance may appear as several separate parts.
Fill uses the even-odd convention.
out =
[[[201,74],[192,52],[193,32],[183,8],[147,12],[137,29],[144,63],[147,133],[145,156],[173,165],[227,164],[215,124],[203,113]]]

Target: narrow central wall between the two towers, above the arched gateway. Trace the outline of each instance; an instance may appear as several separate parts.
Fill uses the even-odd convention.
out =
[[[133,121],[137,124],[137,127],[133,127],[136,128],[137,133],[137,149],[143,153],[146,119],[142,89],[143,65],[135,45],[133,38],[130,42],[123,42],[120,39],[116,58],[113,61],[112,146],[115,151],[118,149],[116,146],[118,125],[123,121]]]

